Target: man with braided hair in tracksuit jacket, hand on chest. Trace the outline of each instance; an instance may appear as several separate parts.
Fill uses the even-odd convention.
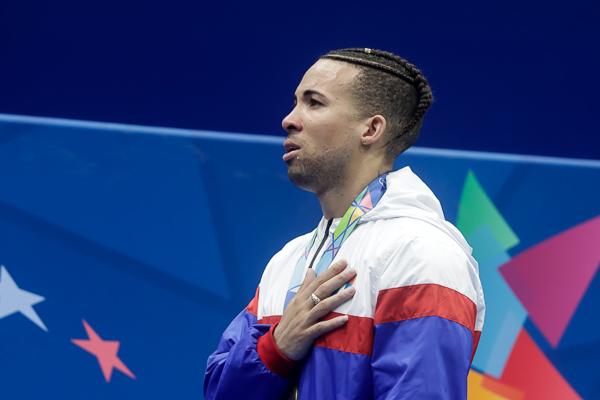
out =
[[[291,181],[323,219],[267,265],[208,360],[207,399],[466,399],[483,326],[477,262],[409,168],[432,101],[391,53],[345,49],[284,118]]]

